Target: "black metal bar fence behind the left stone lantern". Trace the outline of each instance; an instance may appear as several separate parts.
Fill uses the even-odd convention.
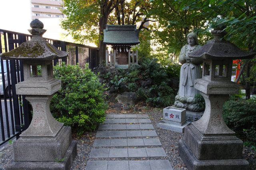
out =
[[[31,39],[31,35],[0,29],[0,53],[15,49],[21,43]],[[54,64],[62,61],[66,64],[93,69],[99,65],[98,48],[46,39],[55,47],[69,53],[68,57],[54,60]],[[15,84],[24,81],[23,63],[18,60],[0,59],[0,146],[26,130],[32,120],[32,108],[24,95],[16,95]]]

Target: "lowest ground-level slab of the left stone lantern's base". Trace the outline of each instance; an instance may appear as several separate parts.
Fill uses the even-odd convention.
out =
[[[26,153],[24,153],[26,155]],[[23,162],[14,162],[12,160],[10,164],[6,167],[6,170],[69,170],[71,168],[72,162],[76,157],[76,141],[72,141],[66,154],[64,160],[56,161],[23,161]]]

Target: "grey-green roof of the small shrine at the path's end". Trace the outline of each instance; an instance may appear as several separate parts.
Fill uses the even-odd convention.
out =
[[[103,43],[108,45],[136,45],[140,43],[136,25],[106,25]]]

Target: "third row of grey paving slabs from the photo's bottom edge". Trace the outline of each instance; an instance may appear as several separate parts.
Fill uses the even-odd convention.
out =
[[[162,144],[158,138],[95,139],[93,146],[162,146]]]

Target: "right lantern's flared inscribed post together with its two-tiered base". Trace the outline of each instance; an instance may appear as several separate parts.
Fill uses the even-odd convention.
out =
[[[191,170],[234,170],[247,168],[242,159],[243,142],[222,118],[222,107],[229,95],[202,93],[206,109],[202,118],[185,127],[178,153]]]

